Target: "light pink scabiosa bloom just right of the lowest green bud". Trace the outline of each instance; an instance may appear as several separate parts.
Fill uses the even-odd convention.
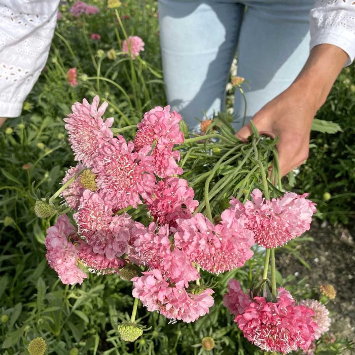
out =
[[[139,298],[149,311],[157,310],[171,320],[195,322],[214,304],[211,289],[192,294],[184,288],[171,287],[159,270],[143,272],[143,276],[132,281],[133,297]]]

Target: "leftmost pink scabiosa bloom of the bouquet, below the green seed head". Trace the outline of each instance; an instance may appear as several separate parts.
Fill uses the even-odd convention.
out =
[[[75,245],[68,240],[69,236],[75,235],[76,232],[66,215],[59,216],[56,225],[47,229],[45,244],[48,264],[66,285],[82,283],[87,277],[78,267]]]

